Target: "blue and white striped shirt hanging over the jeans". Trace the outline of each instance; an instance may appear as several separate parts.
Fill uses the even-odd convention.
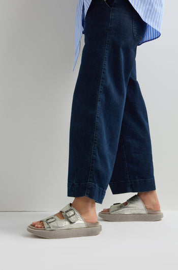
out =
[[[84,34],[86,12],[91,2],[92,0],[78,0],[75,15],[75,57],[73,71],[80,52],[80,39],[82,34]],[[144,38],[138,45],[159,38],[163,21],[164,0],[129,0],[129,2],[147,23]]]

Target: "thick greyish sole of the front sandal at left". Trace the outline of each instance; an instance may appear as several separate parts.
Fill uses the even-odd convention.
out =
[[[26,229],[28,232],[31,232],[43,238],[60,239],[60,238],[69,238],[69,237],[98,235],[102,230],[102,226],[99,225],[97,227],[61,229],[61,230],[40,230],[40,229],[36,230],[36,229],[32,229],[31,226],[28,226]]]

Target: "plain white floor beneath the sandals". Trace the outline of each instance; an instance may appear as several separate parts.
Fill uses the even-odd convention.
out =
[[[0,212],[0,269],[177,269],[178,211],[157,222],[107,222],[97,236],[45,239],[27,225],[54,212]]]

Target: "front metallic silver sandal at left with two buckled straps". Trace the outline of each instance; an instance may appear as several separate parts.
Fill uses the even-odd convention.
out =
[[[64,220],[55,214],[43,221],[45,228],[36,228],[32,224],[26,229],[37,236],[43,238],[69,238],[80,236],[93,236],[100,233],[102,226],[99,222],[85,222],[80,213],[71,206],[66,205],[62,210]]]

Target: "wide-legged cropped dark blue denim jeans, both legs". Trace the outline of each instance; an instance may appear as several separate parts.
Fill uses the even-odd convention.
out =
[[[128,0],[92,0],[73,94],[68,196],[102,203],[156,190],[149,122],[136,78],[146,22]]]

